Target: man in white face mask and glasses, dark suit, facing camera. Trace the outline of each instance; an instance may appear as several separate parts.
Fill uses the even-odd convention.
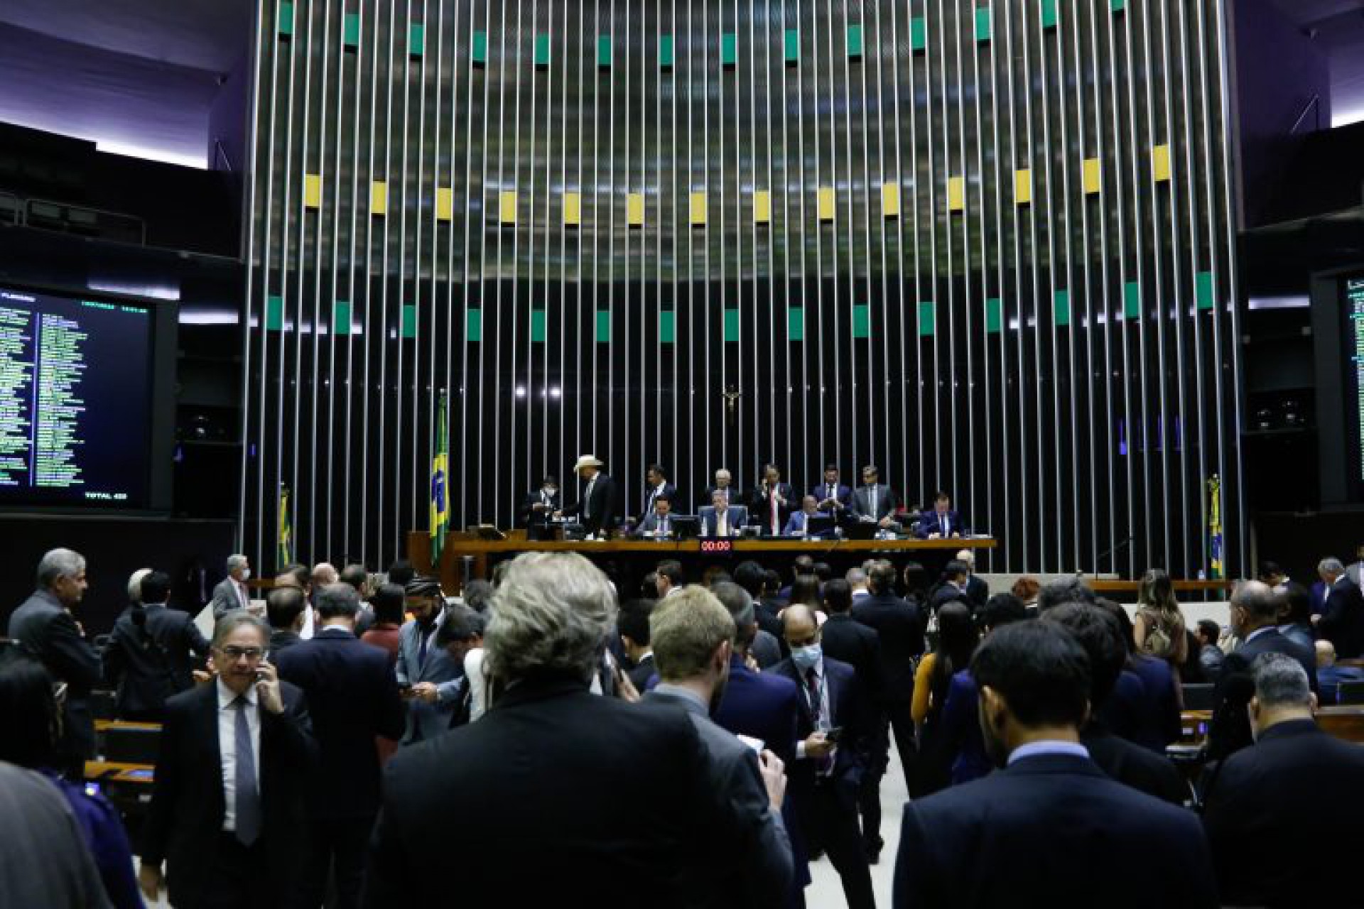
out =
[[[812,854],[824,849],[843,880],[848,909],[876,905],[872,871],[858,831],[858,790],[866,769],[866,710],[857,673],[827,658],[814,612],[787,606],[782,634],[791,656],[772,666],[801,688],[791,790]]]

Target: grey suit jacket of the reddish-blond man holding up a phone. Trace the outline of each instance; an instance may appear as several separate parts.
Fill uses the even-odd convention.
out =
[[[723,854],[730,861],[696,882],[696,905],[786,905],[794,871],[791,839],[782,812],[771,805],[757,755],[732,732],[717,726],[700,700],[655,690],[644,703],[687,713],[711,758],[707,788],[732,805],[731,823],[715,831],[727,841]]]

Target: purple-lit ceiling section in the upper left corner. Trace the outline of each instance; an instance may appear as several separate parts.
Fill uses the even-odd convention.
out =
[[[207,166],[209,110],[252,0],[3,0],[0,121]],[[237,74],[244,78],[244,71]]]

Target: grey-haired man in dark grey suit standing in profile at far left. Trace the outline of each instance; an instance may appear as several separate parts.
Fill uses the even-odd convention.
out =
[[[85,556],[52,549],[38,560],[38,587],[10,616],[10,638],[42,662],[53,681],[67,685],[61,710],[63,770],[85,780],[85,762],[94,756],[90,690],[100,681],[100,657],[71,617],[86,591]]]

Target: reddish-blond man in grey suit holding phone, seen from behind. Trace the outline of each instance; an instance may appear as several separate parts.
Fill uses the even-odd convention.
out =
[[[761,755],[711,721],[730,677],[735,624],[704,587],[687,587],[649,616],[659,684],[645,705],[686,710],[709,754],[709,785],[735,815],[723,827],[732,842],[727,861],[705,865],[696,880],[697,905],[780,906],[791,886],[791,842],[782,820],[786,777],[769,750]],[[709,901],[709,902],[708,902]]]

